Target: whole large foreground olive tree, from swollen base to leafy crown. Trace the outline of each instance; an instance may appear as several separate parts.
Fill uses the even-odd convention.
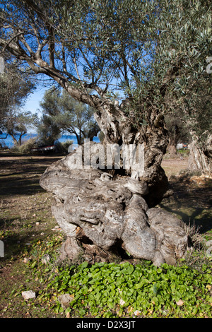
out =
[[[54,215],[69,234],[65,251],[78,251],[77,238],[88,237],[156,264],[182,256],[182,225],[154,208],[169,190],[160,165],[168,143],[164,115],[173,96],[184,119],[196,114],[185,121],[194,130],[199,108],[189,100],[210,79],[204,66],[196,69],[208,55],[209,13],[203,0],[1,0],[2,54],[11,52],[93,107],[106,143],[144,148],[142,176],[134,167],[72,170],[80,150],[43,174],[40,183],[57,197]]]

